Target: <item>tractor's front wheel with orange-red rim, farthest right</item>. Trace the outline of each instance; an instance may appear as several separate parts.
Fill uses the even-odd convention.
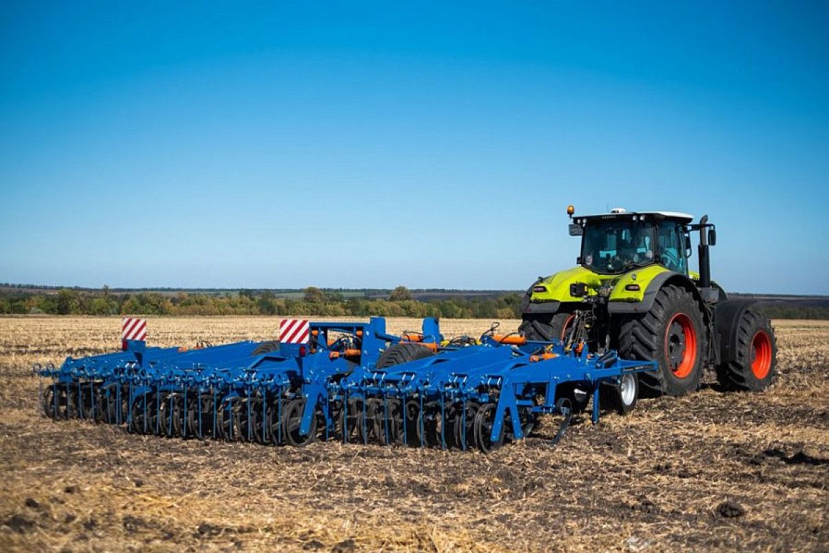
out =
[[[766,389],[777,376],[777,340],[768,318],[751,306],[734,322],[729,358],[717,366],[717,381],[731,390]]]

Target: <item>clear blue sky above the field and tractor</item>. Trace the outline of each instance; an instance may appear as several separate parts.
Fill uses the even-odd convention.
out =
[[[2,2],[0,282],[524,289],[574,203],[829,293],[827,2],[240,3]]]

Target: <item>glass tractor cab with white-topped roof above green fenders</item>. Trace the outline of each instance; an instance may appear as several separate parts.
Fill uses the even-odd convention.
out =
[[[624,274],[659,264],[688,274],[693,216],[671,211],[631,212],[616,208],[604,215],[579,216],[570,235],[580,235],[577,262],[597,274]]]

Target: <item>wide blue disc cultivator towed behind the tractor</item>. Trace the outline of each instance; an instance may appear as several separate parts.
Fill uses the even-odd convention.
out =
[[[580,406],[574,390],[592,397],[598,423],[600,390],[655,368],[613,351],[599,357],[583,342],[499,336],[495,327],[448,341],[434,318],[402,336],[371,318],[310,323],[305,343],[187,350],[126,340],[122,352],[34,370],[42,410],[54,420],[270,445],[339,439],[489,452],[525,438],[542,414],[561,416],[557,442]]]

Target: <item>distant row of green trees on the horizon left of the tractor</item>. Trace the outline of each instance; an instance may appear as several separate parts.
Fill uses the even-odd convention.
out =
[[[344,298],[313,286],[301,297],[270,291],[238,293],[114,293],[63,288],[56,293],[0,289],[0,314],[49,315],[313,315],[322,317],[520,318],[521,294],[495,298],[441,298],[419,301],[405,286],[388,298]]]

